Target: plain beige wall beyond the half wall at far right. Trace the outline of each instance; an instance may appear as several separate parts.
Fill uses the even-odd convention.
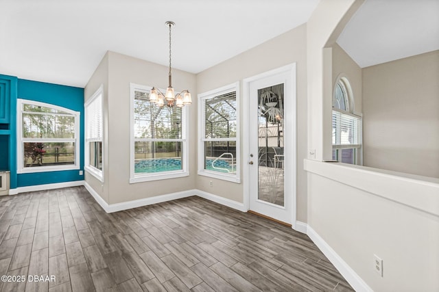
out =
[[[364,165],[439,178],[439,51],[363,68]]]

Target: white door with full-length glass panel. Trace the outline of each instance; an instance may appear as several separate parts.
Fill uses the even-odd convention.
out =
[[[250,211],[292,224],[292,144],[295,127],[291,73],[283,72],[249,83]],[[291,138],[290,138],[291,140]],[[285,148],[285,145],[290,148]]]

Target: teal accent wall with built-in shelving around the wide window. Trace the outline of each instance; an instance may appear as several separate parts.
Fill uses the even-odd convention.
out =
[[[16,100],[40,101],[80,112],[80,170],[84,170],[84,88],[0,75],[0,170],[10,170],[11,189],[82,181],[79,170],[16,173]],[[3,103],[4,102],[4,103]],[[7,113],[5,113],[7,111]]]

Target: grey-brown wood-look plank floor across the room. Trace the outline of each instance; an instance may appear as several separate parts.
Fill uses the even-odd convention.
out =
[[[84,187],[0,197],[0,275],[25,276],[1,291],[353,291],[291,228],[198,197],[107,214]]]

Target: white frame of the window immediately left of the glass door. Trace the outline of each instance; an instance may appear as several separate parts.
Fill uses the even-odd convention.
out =
[[[219,96],[222,94],[226,94],[229,92],[236,92],[236,137],[231,138],[211,138],[206,139],[205,135],[205,110],[204,110],[204,101],[206,99],[214,98],[215,96]],[[209,176],[211,178],[217,178],[224,181],[231,181],[233,183],[241,183],[241,145],[240,145],[240,128],[241,128],[241,119],[240,119],[240,93],[239,93],[239,82],[235,82],[229,85],[225,85],[221,88],[217,88],[215,90],[210,90],[209,92],[204,92],[202,94],[198,94],[198,175],[201,176]],[[209,141],[230,141],[236,143],[236,173],[235,174],[227,174],[224,172],[215,172],[211,170],[206,170],[204,167],[204,142]]]

